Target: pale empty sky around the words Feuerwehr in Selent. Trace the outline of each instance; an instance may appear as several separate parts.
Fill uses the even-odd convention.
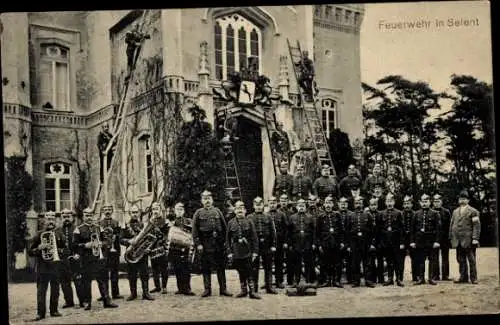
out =
[[[384,76],[401,75],[446,91],[455,73],[492,83],[490,17],[487,1],[365,4],[362,81],[375,85]],[[450,27],[449,19],[469,26]]]

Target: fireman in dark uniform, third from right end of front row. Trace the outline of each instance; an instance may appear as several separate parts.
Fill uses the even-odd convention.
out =
[[[430,208],[431,201],[427,194],[420,197],[421,209],[415,213],[413,222],[413,240],[410,247],[417,250],[419,279],[416,284],[425,284],[425,260],[429,260],[429,271],[432,270],[434,258],[436,257],[435,250],[439,248],[441,240],[439,221],[439,213]],[[432,274],[429,272],[429,284],[436,285],[432,279]]]

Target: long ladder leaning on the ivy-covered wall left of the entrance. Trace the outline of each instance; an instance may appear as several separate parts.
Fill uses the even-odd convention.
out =
[[[145,10],[142,14],[141,17],[141,24],[139,25],[139,32],[142,33],[144,30],[144,27],[146,25],[146,17],[147,14],[149,13],[149,10]],[[115,160],[116,160],[116,154],[113,154],[113,157],[111,158],[110,166],[107,166],[107,155],[109,154],[110,150],[112,148],[120,148],[123,144],[123,138],[124,138],[124,133],[123,133],[123,128],[125,125],[125,117],[127,116],[128,113],[128,106],[127,104],[127,94],[129,90],[129,85],[133,82],[134,78],[134,71],[136,68],[137,61],[141,55],[142,52],[142,47],[144,45],[144,38],[141,40],[141,43],[138,45],[136,49],[136,54],[135,54],[135,61],[132,63],[132,67],[130,69],[130,74],[129,78],[125,79],[125,82],[122,87],[122,92],[121,92],[121,97],[120,97],[120,103],[118,106],[118,111],[116,113],[116,118],[113,122],[113,127],[112,127],[112,132],[113,132],[113,137],[109,141],[105,151],[104,151],[104,157],[103,157],[103,173],[104,173],[104,182],[100,183],[96,188],[96,193],[94,196],[94,200],[91,205],[92,211],[94,213],[100,213],[100,211],[97,211],[98,206],[102,206],[103,204],[106,205],[109,203],[109,197],[108,197],[108,185],[109,185],[109,180],[111,176],[111,172],[113,171],[113,166],[116,165]],[[104,198],[104,202],[103,202]]]

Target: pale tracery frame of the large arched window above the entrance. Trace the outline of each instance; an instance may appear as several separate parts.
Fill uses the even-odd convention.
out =
[[[235,20],[234,17],[237,16],[238,19]],[[217,48],[217,44],[215,42],[216,39],[216,32],[215,32],[215,27],[219,24],[220,29],[221,29],[221,49]],[[231,25],[233,32],[234,32],[234,38],[233,38],[233,57],[234,57],[234,71],[240,71],[240,44],[239,44],[239,31],[241,27],[244,28],[246,31],[246,58],[248,59],[250,56],[255,56],[252,55],[252,39],[251,39],[251,33],[253,30],[256,31],[257,36],[258,36],[258,44],[257,44],[257,51],[258,54],[256,55],[258,58],[258,63],[259,63],[259,74],[262,74],[262,45],[263,45],[263,31],[262,29],[257,26],[255,23],[253,23],[251,20],[247,19],[246,17],[243,17],[241,14],[238,13],[232,13],[229,15],[224,15],[220,16],[214,19],[213,23],[213,40],[214,40],[214,67],[215,67],[215,79],[219,80],[219,76],[217,73],[217,68],[218,66],[222,66],[222,78],[220,80],[227,80],[228,77],[228,65],[227,65],[227,28]],[[222,53],[222,62],[221,64],[217,64],[216,60],[216,55],[217,52]]]

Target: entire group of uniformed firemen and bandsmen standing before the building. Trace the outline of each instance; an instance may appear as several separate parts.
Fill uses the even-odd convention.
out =
[[[280,167],[287,170],[286,163]],[[278,294],[276,289],[285,288],[285,275],[292,288],[298,288],[301,281],[315,283],[315,288],[343,288],[345,284],[373,288],[377,283],[403,287],[408,255],[414,284],[436,285],[438,280],[450,280],[451,245],[457,248],[460,269],[460,278],[455,282],[468,282],[470,268],[470,280],[477,283],[475,248],[479,244],[480,222],[477,210],[468,205],[467,192],[462,191],[459,208],[453,213],[443,208],[439,194],[432,197],[432,202],[428,194],[421,195],[420,208],[415,211],[411,196],[404,196],[401,206],[397,206],[397,195],[401,193],[387,191],[379,166],[365,182],[366,198],[361,196],[362,183],[353,166],[338,185],[329,178],[329,166],[323,166],[322,176],[315,182],[303,175],[301,166],[298,170],[296,176],[286,172],[278,175],[267,205],[256,197],[248,215],[245,204],[237,201],[234,215],[224,216],[213,205],[209,191],[201,193],[202,207],[192,218],[185,215],[182,202],[174,206],[173,220],[166,216],[160,203],[154,202],[146,220],[141,221],[141,211],[133,205],[124,228],[113,219],[113,207],[109,205],[102,208],[100,220],[94,219],[94,211],[85,209],[79,226],[74,225],[71,211],[61,212],[58,227],[55,213],[47,212],[44,229],[29,247],[29,254],[37,257],[36,320],[46,317],[49,284],[52,317],[61,316],[59,287],[65,300],[63,309],[90,310],[94,279],[103,306],[118,307],[113,300],[123,298],[118,285],[122,245],[126,247],[124,258],[130,287],[127,301],[138,298],[138,278],[143,300],[155,300],[151,293],[166,294],[169,265],[177,280],[175,294],[186,296],[195,295],[191,274],[196,265],[203,277],[201,297],[212,295],[213,271],[217,274],[219,294],[233,296],[226,283],[228,265],[239,275],[241,291],[237,298],[261,299],[259,288],[267,294]],[[151,291],[148,260],[154,281]],[[263,287],[259,287],[261,265]],[[79,304],[75,304],[71,282]]]

